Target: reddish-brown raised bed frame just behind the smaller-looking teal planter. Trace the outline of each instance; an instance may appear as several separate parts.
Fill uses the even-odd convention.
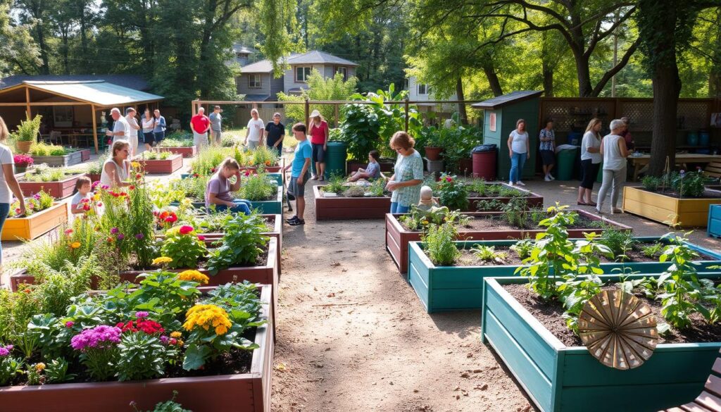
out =
[[[614,222],[605,217],[590,214],[587,211],[575,210],[581,216],[591,220],[603,221],[619,230],[627,230],[632,232],[633,229],[624,224]],[[498,216],[502,212],[475,212],[464,213],[466,216]],[[403,228],[398,221],[400,214],[386,214],[386,250],[391,254],[391,258],[398,266],[400,273],[408,271],[408,243],[420,241],[421,232],[409,232]],[[508,240],[523,239],[524,237],[536,237],[537,234],[544,232],[543,229],[516,229],[516,230],[485,230],[474,231],[472,229],[459,229],[457,240]],[[568,235],[574,238],[582,238],[583,232],[601,233],[603,229],[569,229]]]

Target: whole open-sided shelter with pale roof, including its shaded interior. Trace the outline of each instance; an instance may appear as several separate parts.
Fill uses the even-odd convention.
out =
[[[164,97],[105,82],[90,81],[32,81],[0,89],[0,115],[9,128],[20,120],[42,114],[44,126],[53,131],[88,130],[92,127],[95,153],[98,152],[98,111],[111,108],[145,105],[157,108]],[[105,123],[105,118],[101,119]],[[87,133],[89,135],[89,133]]]

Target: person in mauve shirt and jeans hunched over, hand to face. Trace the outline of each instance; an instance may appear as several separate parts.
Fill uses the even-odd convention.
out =
[[[230,178],[235,176],[235,183],[230,183]],[[211,211],[211,205],[216,205],[216,211],[230,211],[243,214],[250,214],[251,203],[243,199],[234,199],[230,196],[240,188],[240,165],[232,157],[226,158],[208,185],[205,186],[205,207]]]

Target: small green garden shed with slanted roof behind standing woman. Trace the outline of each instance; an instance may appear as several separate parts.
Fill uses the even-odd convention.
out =
[[[539,130],[538,113],[541,95],[536,90],[519,90],[508,95],[493,97],[483,102],[474,103],[472,108],[483,109],[483,143],[498,146],[496,175],[508,177],[510,159],[508,157],[508,135],[516,128],[518,119],[526,120],[528,139],[531,140],[531,157],[523,167],[523,177],[532,177],[536,172],[536,142],[534,135]]]

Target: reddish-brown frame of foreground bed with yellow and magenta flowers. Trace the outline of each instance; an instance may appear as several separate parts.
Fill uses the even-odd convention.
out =
[[[58,385],[0,387],[3,412],[103,411],[128,412],[131,401],[138,409],[152,410],[172,398],[192,411],[270,412],[270,382],[275,353],[275,307],[272,286],[259,285],[261,316],[253,342],[250,372],[204,377],[173,377],[131,382],[63,383]]]

